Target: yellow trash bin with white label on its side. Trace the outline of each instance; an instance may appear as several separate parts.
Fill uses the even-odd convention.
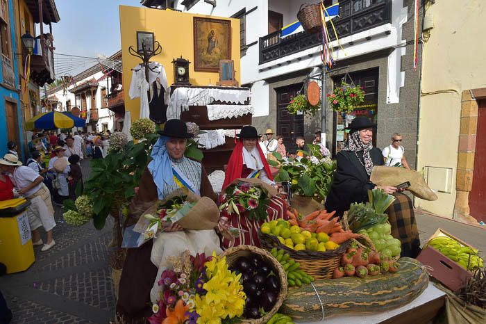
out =
[[[5,203],[4,201],[1,203]],[[25,200],[17,204],[21,211],[10,216],[15,207],[1,209],[0,207],[0,262],[7,267],[7,273],[18,273],[27,270],[34,261],[31,226],[25,211]]]

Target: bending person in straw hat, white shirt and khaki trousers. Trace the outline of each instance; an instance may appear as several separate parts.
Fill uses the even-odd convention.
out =
[[[43,184],[44,178],[37,172],[22,165],[14,154],[5,154],[0,159],[0,171],[8,174],[19,194],[31,201],[28,208],[28,220],[32,229],[33,245],[42,245],[42,238],[37,228],[43,226],[47,232],[47,243],[42,251],[47,251],[56,244],[52,238],[52,229],[56,226],[51,194]]]

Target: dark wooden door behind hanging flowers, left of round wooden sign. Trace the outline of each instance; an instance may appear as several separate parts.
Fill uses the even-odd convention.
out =
[[[277,134],[283,136],[283,143],[287,152],[296,152],[295,138],[303,136],[303,114],[292,115],[287,111],[290,100],[301,90],[302,83],[284,88],[278,88],[277,92]]]

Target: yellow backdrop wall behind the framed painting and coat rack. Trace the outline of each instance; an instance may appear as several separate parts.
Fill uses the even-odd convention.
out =
[[[191,62],[189,76],[192,85],[216,85],[219,80],[217,72],[194,72],[192,18],[210,16],[128,6],[119,6],[119,11],[125,111],[131,112],[132,120],[138,119],[140,99],[131,100],[128,97],[128,88],[132,78],[131,69],[141,62],[140,58],[128,54],[128,47],[133,45],[135,49],[137,48],[137,31],[153,32],[155,39],[160,42],[162,53],[151,60],[164,65],[169,86],[174,83],[174,65],[171,61],[181,55]],[[231,59],[235,61],[235,79],[240,81],[240,20],[229,20],[231,20]]]

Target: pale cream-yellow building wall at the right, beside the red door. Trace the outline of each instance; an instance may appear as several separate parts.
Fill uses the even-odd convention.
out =
[[[458,5],[460,3],[460,5]],[[486,1],[435,1],[426,15],[433,15],[430,38],[424,35],[418,169],[425,166],[453,168],[452,193],[438,193],[439,200],[417,200],[418,206],[451,218],[463,90],[486,87],[486,42],[478,40],[486,27]],[[430,93],[439,92],[439,93]]]

